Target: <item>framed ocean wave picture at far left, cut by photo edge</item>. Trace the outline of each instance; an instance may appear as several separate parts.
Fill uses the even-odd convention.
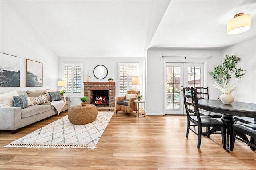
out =
[[[0,87],[20,87],[20,57],[0,53]]]

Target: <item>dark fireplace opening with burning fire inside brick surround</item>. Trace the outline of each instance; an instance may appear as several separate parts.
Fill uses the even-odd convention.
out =
[[[92,90],[91,104],[108,106],[108,90]]]

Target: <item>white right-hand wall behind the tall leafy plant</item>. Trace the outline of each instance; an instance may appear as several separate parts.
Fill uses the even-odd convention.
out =
[[[246,74],[240,79],[234,79],[236,91],[232,93],[235,101],[256,103],[256,38],[232,45],[222,50],[222,60],[226,55],[238,55],[241,57],[237,68],[246,70]]]

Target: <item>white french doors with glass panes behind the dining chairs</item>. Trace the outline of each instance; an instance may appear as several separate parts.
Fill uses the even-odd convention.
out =
[[[184,115],[183,87],[204,86],[204,63],[164,63],[164,114]]]

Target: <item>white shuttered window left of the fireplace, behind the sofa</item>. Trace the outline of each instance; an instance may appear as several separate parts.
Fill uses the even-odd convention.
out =
[[[82,95],[82,64],[64,63],[63,75],[66,86],[63,87],[68,96]]]

